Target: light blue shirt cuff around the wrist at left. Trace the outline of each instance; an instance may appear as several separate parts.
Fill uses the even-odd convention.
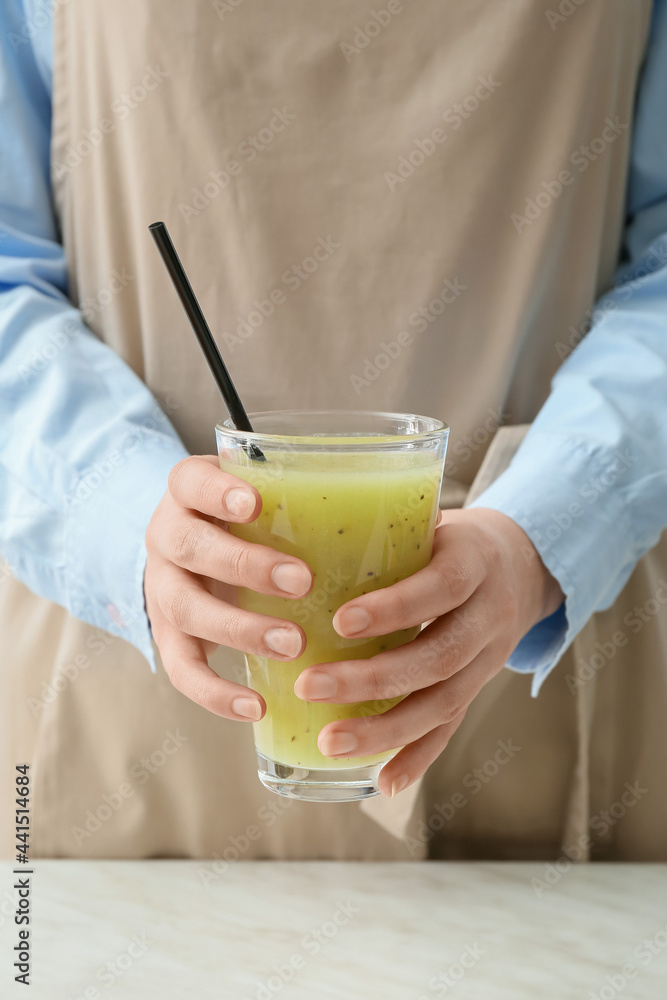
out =
[[[141,429],[84,472],[67,498],[68,608],[130,642],[153,673],[144,535],[169,472],[187,455],[176,438]]]

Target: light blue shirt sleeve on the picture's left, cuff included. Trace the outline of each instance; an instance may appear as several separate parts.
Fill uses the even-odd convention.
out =
[[[49,182],[49,24],[26,9],[0,6],[0,551],[30,590],[155,669],[143,539],[187,452],[68,300]]]

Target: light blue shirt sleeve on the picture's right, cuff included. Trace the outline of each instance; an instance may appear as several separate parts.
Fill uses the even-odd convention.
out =
[[[635,120],[628,263],[510,467],[472,507],[529,535],[565,602],[508,666],[536,695],[574,637],[610,607],[667,526],[667,3],[659,0]]]

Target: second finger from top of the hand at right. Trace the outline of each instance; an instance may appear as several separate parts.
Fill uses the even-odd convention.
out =
[[[447,680],[492,638],[488,601],[479,591],[404,646],[367,660],[307,667],[297,677],[294,693],[304,701],[335,704],[397,698]]]

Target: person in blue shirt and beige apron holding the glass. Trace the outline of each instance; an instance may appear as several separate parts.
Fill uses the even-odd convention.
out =
[[[532,0],[7,11],[2,729],[6,777],[33,763],[36,852],[529,857],[588,838],[582,856],[662,857],[657,792],[591,828],[627,782],[664,781],[664,548],[645,555],[667,509],[664,4],[589,0],[567,23]],[[454,429],[431,567],[337,620],[435,619],[432,669],[363,746],[320,737],[405,744],[367,812],[271,801],[254,776],[263,705],[232,650],[287,660],[303,637],[258,631],[230,588],[297,596],[309,569],[225,531],[260,501],[211,456],[220,403],[146,233],[160,217],[249,410]],[[498,426],[531,422],[454,509]],[[382,697],[414,653],[331,666],[328,697]],[[520,674],[537,693],[552,671],[531,701]]]

